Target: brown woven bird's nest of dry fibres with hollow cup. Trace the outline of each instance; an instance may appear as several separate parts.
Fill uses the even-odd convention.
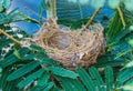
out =
[[[94,64],[98,55],[104,52],[103,28],[100,24],[91,26],[91,29],[65,31],[49,19],[33,39],[49,57],[71,70]]]

